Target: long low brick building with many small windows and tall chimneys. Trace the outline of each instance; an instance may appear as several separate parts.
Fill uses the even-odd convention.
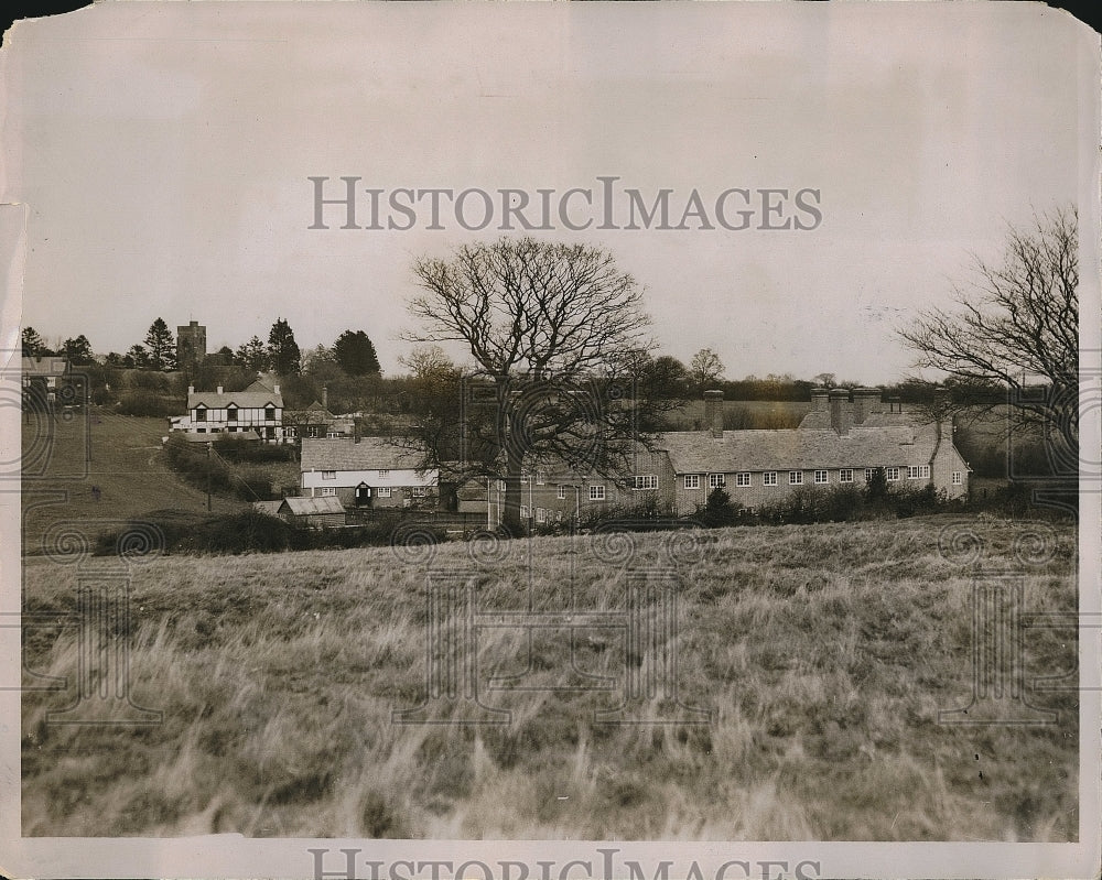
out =
[[[608,510],[688,515],[716,488],[754,509],[782,501],[800,487],[864,486],[884,468],[889,486],[932,485],[947,498],[968,493],[968,464],[952,426],[925,422],[878,389],[815,389],[800,426],[724,431],[723,393],[705,392],[705,427],[659,434],[637,447],[629,472],[597,475],[530,467],[521,480],[521,519],[533,525]],[[457,509],[499,523],[505,482],[480,477],[456,491]]]

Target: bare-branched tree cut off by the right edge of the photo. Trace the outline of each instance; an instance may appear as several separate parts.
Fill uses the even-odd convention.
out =
[[[1040,427],[1071,449],[1079,443],[1079,218],[1074,207],[1012,228],[1001,264],[975,260],[955,286],[955,307],[923,312],[899,332],[918,367],[948,373],[957,389],[1001,389],[1017,425]],[[990,399],[990,393],[988,393]],[[939,414],[969,405],[942,398]]]

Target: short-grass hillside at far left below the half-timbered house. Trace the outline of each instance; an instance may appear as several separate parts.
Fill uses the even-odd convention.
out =
[[[44,477],[23,480],[24,552],[41,552],[43,534],[62,520],[79,521],[95,535],[112,528],[100,520],[125,520],[164,509],[206,511],[206,495],[177,479],[159,455],[165,420],[115,415],[99,408],[88,412],[90,424],[85,417],[80,411],[71,420],[58,416],[52,427],[24,421],[24,458],[32,458],[26,467],[39,472],[40,463],[44,465]],[[90,461],[86,461],[85,424],[91,433]],[[42,458],[39,450],[44,450]],[[98,501],[94,486],[99,488]],[[57,503],[37,507],[54,493]],[[213,503],[216,513],[244,507],[244,502],[217,497]]]

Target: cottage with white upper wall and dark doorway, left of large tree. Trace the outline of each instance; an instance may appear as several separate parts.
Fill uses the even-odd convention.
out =
[[[337,498],[349,508],[434,508],[440,471],[387,437],[303,437],[304,497]]]

